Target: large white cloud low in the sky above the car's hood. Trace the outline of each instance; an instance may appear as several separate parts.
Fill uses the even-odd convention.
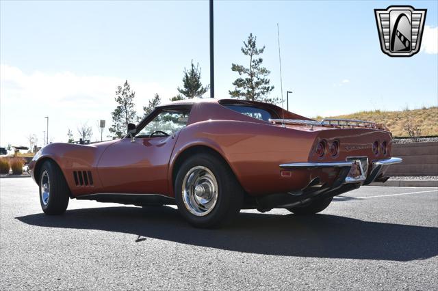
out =
[[[0,65],[1,140],[26,145],[26,136],[36,134],[40,144],[46,130],[44,116],[49,115],[49,137],[53,141],[66,141],[70,128],[77,137],[77,126],[88,122],[97,137],[97,120],[111,125],[111,111],[116,107],[114,92],[125,79],[119,77],[83,76],[73,72],[31,72]],[[157,83],[129,80],[136,92],[136,105],[140,112],[153,94],[158,93],[164,102],[173,92]],[[105,130],[105,136],[107,135]]]

